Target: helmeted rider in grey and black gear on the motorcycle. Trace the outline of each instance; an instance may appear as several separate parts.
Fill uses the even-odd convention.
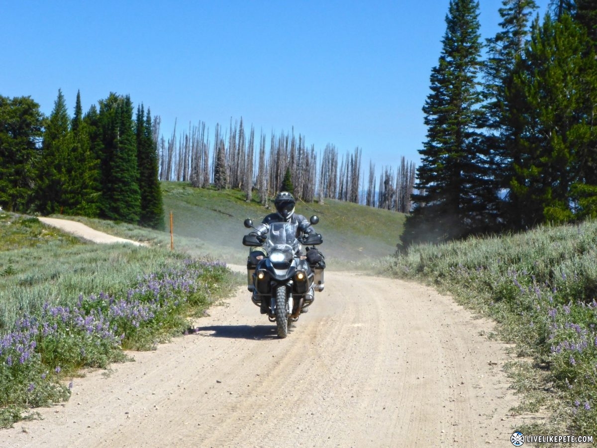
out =
[[[315,229],[313,229],[313,226],[306,217],[301,214],[294,213],[296,201],[294,200],[293,195],[291,195],[289,192],[279,192],[273,202],[273,205],[276,207],[276,213],[270,213],[263,218],[261,224],[256,227],[258,235],[264,234],[267,231],[269,224],[275,222],[290,222],[293,224],[298,224],[298,232],[303,234],[303,237],[306,237],[308,234],[315,233]],[[297,235],[297,237],[298,236],[299,235]],[[313,255],[316,254],[315,250],[307,251],[307,260],[310,258],[309,252],[313,252]],[[249,264],[253,266],[257,265],[257,262],[259,262],[259,260],[261,260],[264,256],[267,256],[267,253],[263,247],[254,247],[249,254]],[[321,254],[319,254],[319,256],[321,257]],[[309,294],[311,297],[314,297],[313,288],[309,291]],[[313,299],[310,301],[312,302]],[[266,314],[266,303],[262,302],[261,305],[261,312]],[[304,308],[303,311],[306,312],[306,308]]]

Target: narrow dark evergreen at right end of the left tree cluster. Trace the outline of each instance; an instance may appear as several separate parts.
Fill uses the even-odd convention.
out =
[[[158,178],[158,146],[153,140],[152,118],[149,109],[144,115],[143,105],[137,108],[137,166],[139,167],[140,217],[142,226],[163,230],[164,204]]]

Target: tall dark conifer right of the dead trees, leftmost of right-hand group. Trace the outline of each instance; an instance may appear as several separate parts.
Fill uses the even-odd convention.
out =
[[[482,143],[479,4],[451,0],[431,93],[423,107],[427,140],[417,168],[419,194],[402,242],[444,241],[491,229],[496,192]],[[493,205],[492,205],[493,204]]]

